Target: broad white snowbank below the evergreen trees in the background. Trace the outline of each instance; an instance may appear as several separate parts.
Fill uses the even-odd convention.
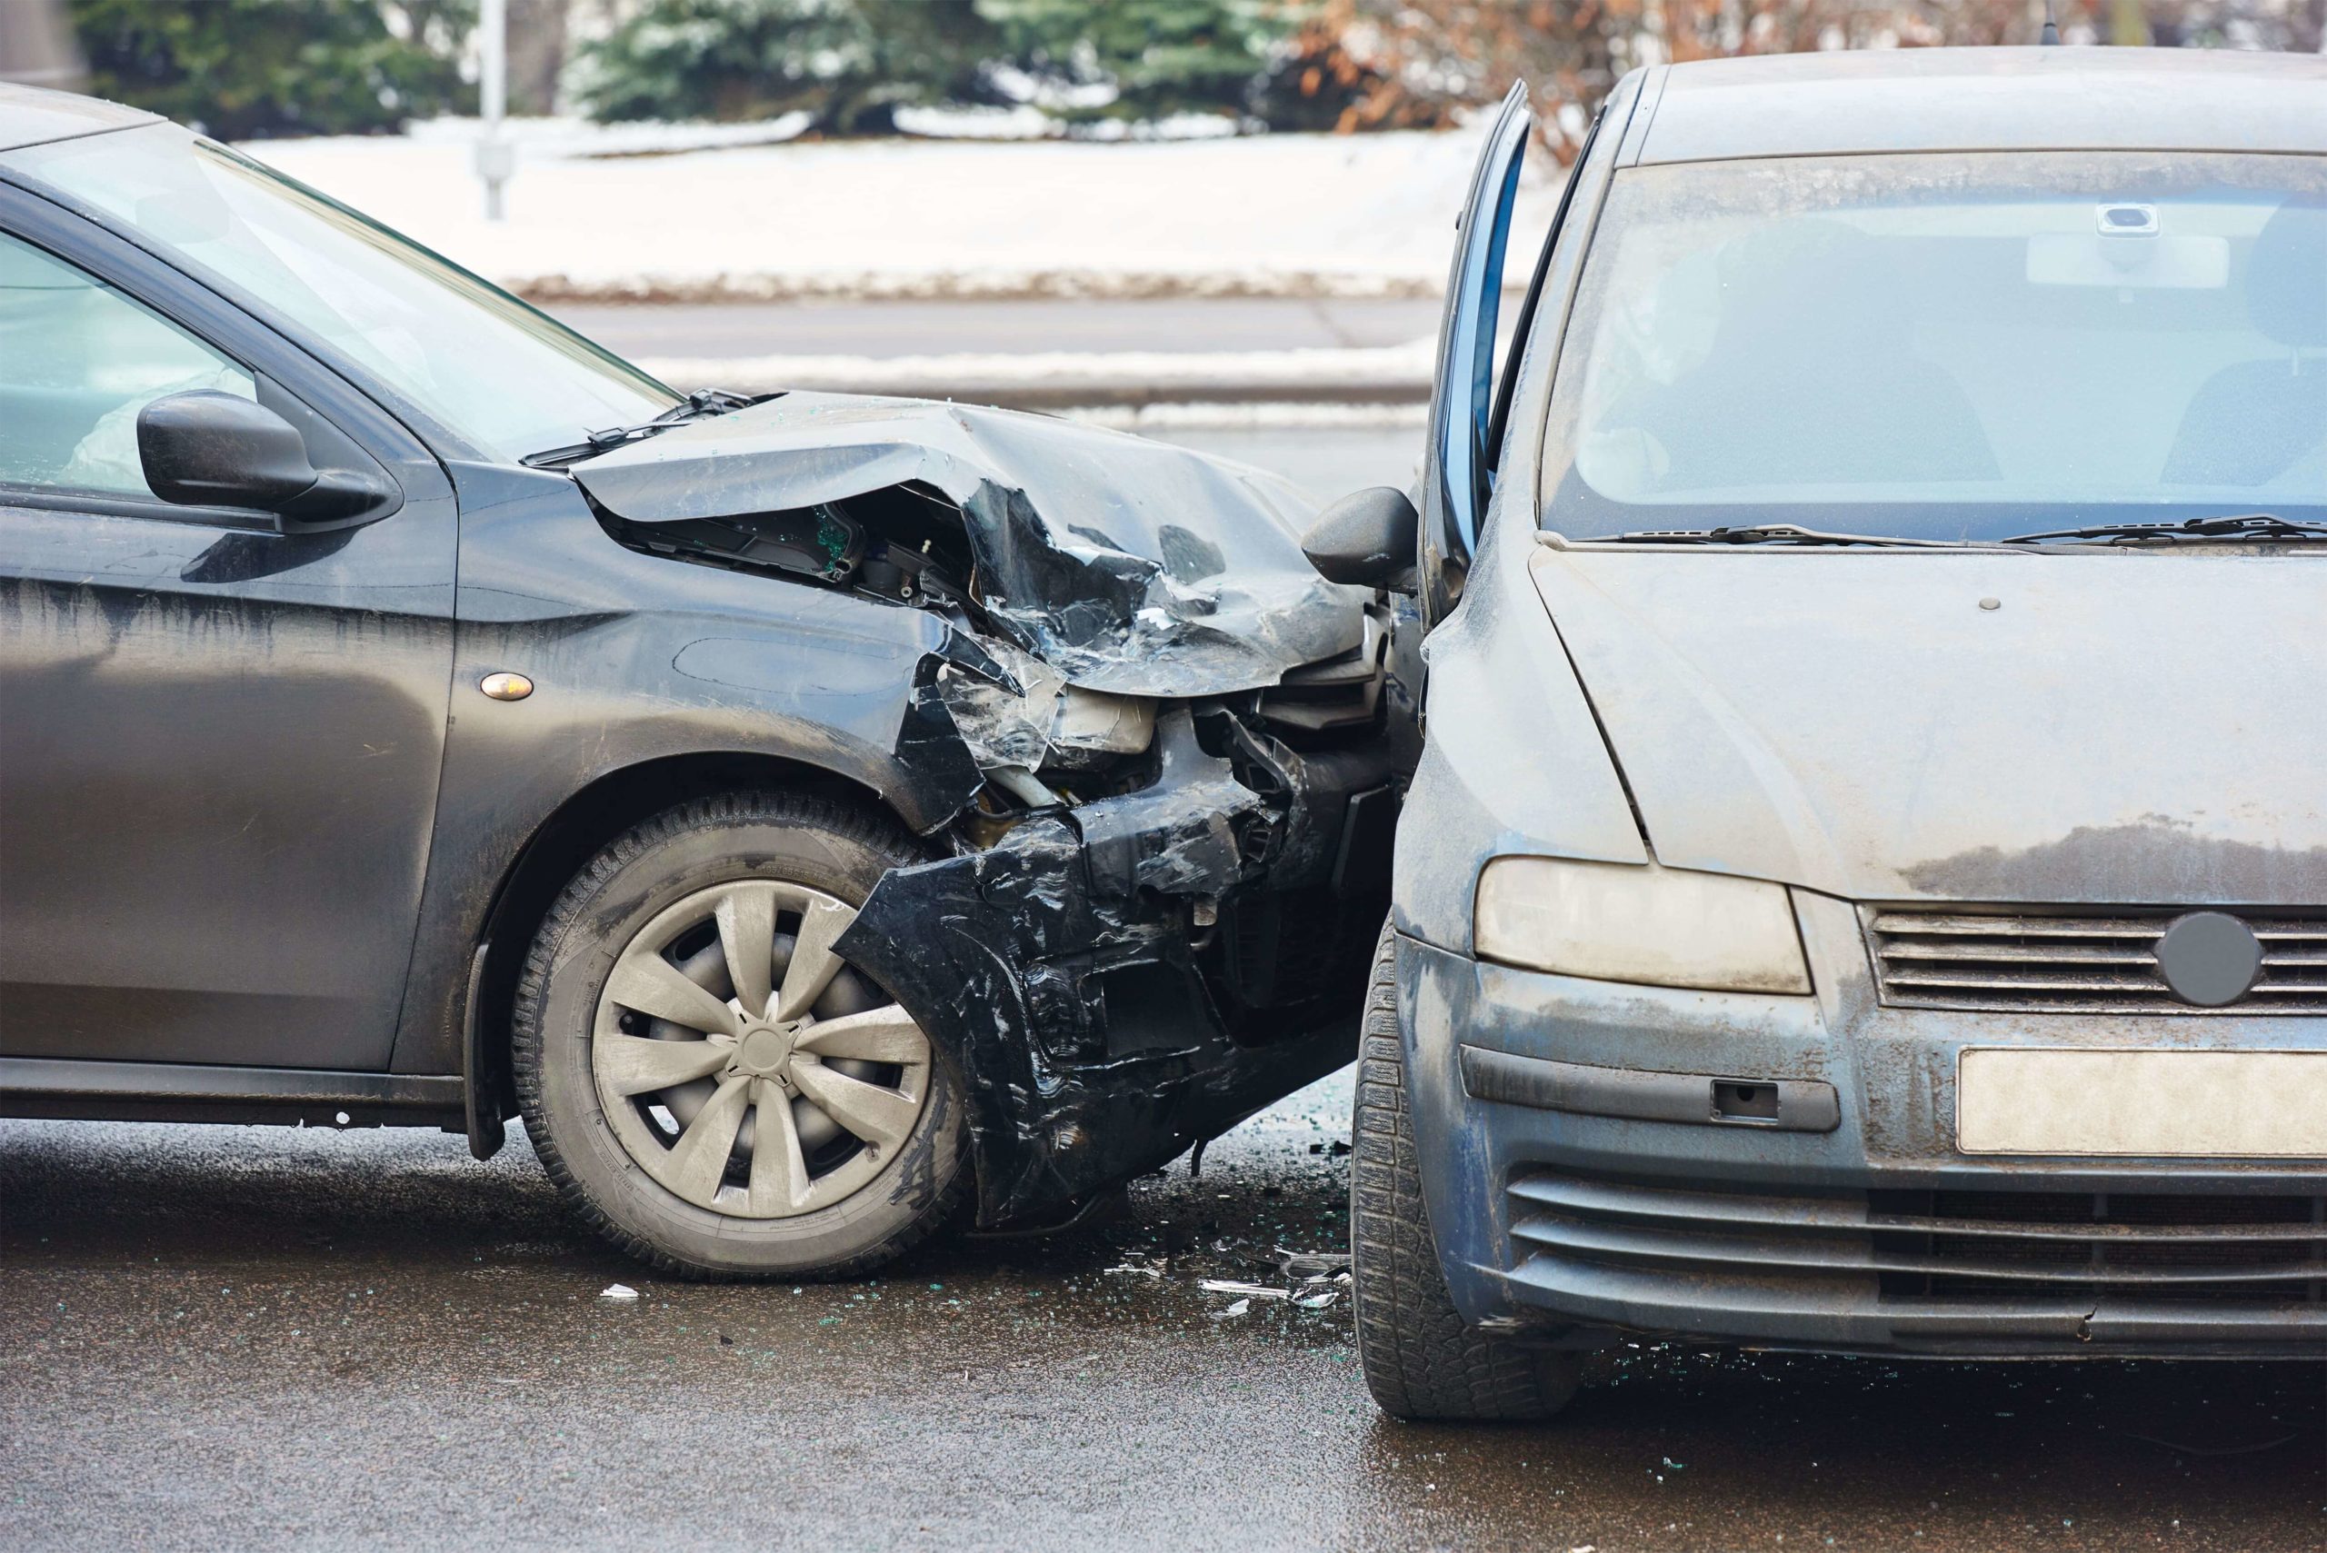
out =
[[[472,123],[244,151],[540,300],[1436,295],[1480,137],[770,144],[791,128],[519,121],[500,223]],[[1554,200],[1527,188],[1522,244]]]

